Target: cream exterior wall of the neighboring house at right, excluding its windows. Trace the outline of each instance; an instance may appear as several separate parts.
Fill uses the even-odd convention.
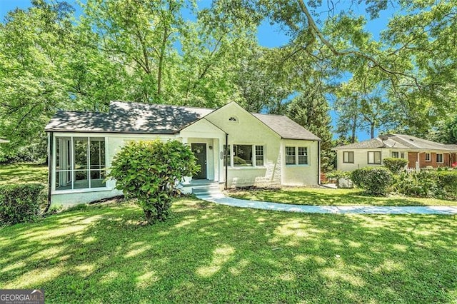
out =
[[[354,163],[343,163],[343,151],[354,153]],[[381,165],[370,163],[368,164],[368,151],[381,151]],[[401,153],[405,153],[405,159],[408,159],[408,152],[406,150],[392,150],[391,148],[370,148],[370,149],[341,149],[336,151],[337,169],[339,171],[353,171],[363,167],[380,167],[383,166],[384,158],[391,158],[392,151],[398,152],[399,157]]]

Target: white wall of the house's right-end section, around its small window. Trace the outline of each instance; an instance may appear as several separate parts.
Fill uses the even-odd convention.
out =
[[[306,147],[308,152],[307,165],[286,165],[286,158],[283,157],[282,184],[284,186],[311,186],[317,185],[319,179],[318,166],[318,141],[296,141],[291,139],[282,140],[281,153],[286,154],[288,147]]]

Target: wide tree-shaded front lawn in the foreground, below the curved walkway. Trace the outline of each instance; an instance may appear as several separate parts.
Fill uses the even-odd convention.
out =
[[[184,198],[0,229],[0,288],[46,303],[455,303],[455,216],[319,215]]]

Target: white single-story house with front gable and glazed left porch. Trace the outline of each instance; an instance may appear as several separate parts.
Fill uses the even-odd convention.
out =
[[[46,132],[52,203],[118,195],[115,181],[105,181],[114,156],[128,141],[156,138],[194,152],[201,171],[186,178],[188,192],[206,181],[220,188],[319,183],[320,138],[286,116],[249,113],[234,102],[214,110],[113,101],[109,113],[58,112]]]

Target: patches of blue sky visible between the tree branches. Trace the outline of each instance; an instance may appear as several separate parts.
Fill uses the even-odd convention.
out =
[[[76,8],[79,7],[74,0],[66,0],[69,4],[75,6]],[[201,0],[198,1],[199,7],[209,6],[210,0]],[[347,9],[351,1],[343,0],[338,2],[337,6],[339,9]],[[25,9],[31,6],[30,0],[0,0],[0,19],[3,21],[4,16],[15,9],[16,7]],[[352,4],[351,9],[354,11],[355,14],[365,14],[365,7]],[[322,11],[322,18],[326,17],[326,13],[324,12],[326,9],[323,8]],[[78,12],[78,10],[77,10]],[[375,20],[368,20],[366,24],[366,30],[371,32],[373,35],[373,39],[379,39],[380,33],[383,29],[386,29],[386,24],[388,19],[396,12],[395,8],[389,8],[386,11],[382,11],[379,18]],[[368,19],[368,16],[367,16]],[[263,21],[261,26],[258,27],[258,43],[261,46],[266,47],[277,47],[282,46],[288,42],[288,37],[281,31],[278,25],[271,25],[269,21]],[[336,121],[336,116],[338,114],[334,111],[331,111],[332,121],[333,123]],[[366,132],[358,132],[357,134],[359,140],[363,140],[369,138],[368,133]]]

